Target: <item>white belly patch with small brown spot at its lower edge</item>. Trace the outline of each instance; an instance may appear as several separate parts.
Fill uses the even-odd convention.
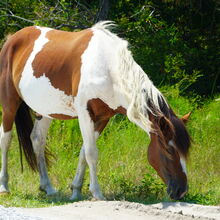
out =
[[[63,91],[54,88],[45,75],[39,78],[31,74],[29,77],[21,77],[19,88],[23,100],[40,115],[59,119],[77,116],[73,96],[68,96]]]

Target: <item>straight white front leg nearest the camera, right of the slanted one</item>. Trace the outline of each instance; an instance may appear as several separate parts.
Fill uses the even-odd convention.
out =
[[[95,199],[105,200],[105,197],[102,195],[100,186],[98,183],[98,178],[96,174],[97,160],[98,160],[98,149],[96,147],[97,134],[95,132],[94,122],[91,120],[90,115],[87,110],[80,109],[78,114],[80,130],[83,137],[83,148],[82,148],[82,157],[83,153],[85,159],[89,166],[90,171],[90,191]],[[82,159],[81,157],[81,159]],[[85,165],[83,165],[85,166]],[[85,167],[83,167],[81,174],[84,173]],[[82,176],[79,176],[82,177]],[[79,185],[82,184],[82,178],[78,178]],[[77,181],[76,181],[77,182]],[[75,182],[75,183],[76,183]],[[81,187],[81,186],[80,186]],[[73,182],[74,188],[74,182]],[[74,198],[74,191],[72,199]]]

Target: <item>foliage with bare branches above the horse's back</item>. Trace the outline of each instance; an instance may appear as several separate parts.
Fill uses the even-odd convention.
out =
[[[0,39],[30,25],[82,29],[92,25],[96,13],[95,5],[78,1],[3,0],[0,2]]]

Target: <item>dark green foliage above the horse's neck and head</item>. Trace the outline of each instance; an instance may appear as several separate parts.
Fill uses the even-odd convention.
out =
[[[112,16],[157,85],[177,84],[183,94],[213,95],[220,89],[218,6],[213,0],[121,0]]]

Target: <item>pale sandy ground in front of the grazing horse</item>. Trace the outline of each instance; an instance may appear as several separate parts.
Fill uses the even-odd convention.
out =
[[[183,202],[143,205],[126,201],[82,201],[48,208],[22,208],[20,212],[48,220],[220,220],[220,206]]]

